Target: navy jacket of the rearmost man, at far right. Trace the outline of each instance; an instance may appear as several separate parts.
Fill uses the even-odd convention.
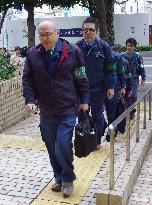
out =
[[[132,78],[134,80],[139,80],[139,76],[141,76],[142,80],[145,81],[146,73],[141,55],[136,52],[133,52],[131,54],[124,52],[122,53],[122,57],[128,61],[128,66],[130,68]]]

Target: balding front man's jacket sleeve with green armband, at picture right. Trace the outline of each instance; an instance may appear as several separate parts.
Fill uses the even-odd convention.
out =
[[[75,49],[76,49],[75,50],[76,66],[74,68],[73,74],[76,82],[76,88],[80,98],[80,103],[88,104],[89,103],[89,82],[86,77],[83,54],[81,53],[80,49],[77,46],[75,46]]]

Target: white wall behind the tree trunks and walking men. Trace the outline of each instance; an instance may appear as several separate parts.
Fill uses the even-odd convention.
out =
[[[81,28],[82,22],[86,17],[54,17],[61,29]],[[43,19],[35,19],[35,25],[39,24]],[[147,45],[149,43],[149,14],[115,14],[114,29],[115,43],[125,45],[125,41],[129,37],[135,37],[139,45]],[[132,27],[132,28],[131,28]],[[8,49],[14,50],[14,47],[27,45],[27,26],[26,19],[7,20],[6,29],[8,33]],[[134,32],[134,33],[133,33]],[[37,30],[35,34],[36,44],[39,43]],[[75,43],[81,37],[68,37],[68,41]],[[0,47],[2,38],[0,38]]]

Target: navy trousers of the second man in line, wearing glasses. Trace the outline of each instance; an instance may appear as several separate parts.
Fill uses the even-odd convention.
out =
[[[97,144],[101,143],[101,137],[103,135],[104,129],[104,97],[105,90],[91,91],[90,92],[90,106],[91,115],[97,128]]]

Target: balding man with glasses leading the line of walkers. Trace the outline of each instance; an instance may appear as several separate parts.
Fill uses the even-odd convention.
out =
[[[41,135],[55,177],[52,191],[69,197],[76,179],[73,128],[79,108],[88,109],[89,84],[80,49],[59,38],[56,23],[45,20],[38,32],[40,44],[29,49],[24,66],[23,96],[29,112],[37,103],[40,108]]]

